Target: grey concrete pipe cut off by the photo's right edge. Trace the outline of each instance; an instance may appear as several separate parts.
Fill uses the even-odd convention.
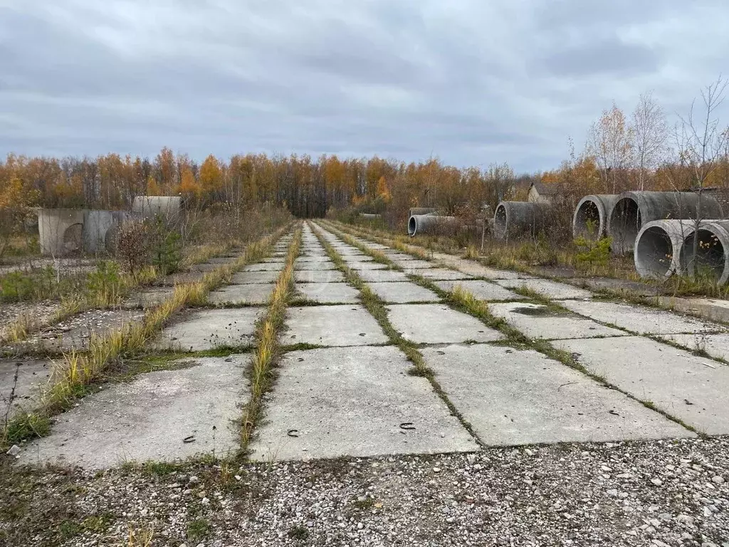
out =
[[[698,239],[694,254],[694,241]],[[714,279],[718,284],[729,280],[729,221],[706,220],[698,230],[684,238],[679,252],[682,271],[693,276]]]

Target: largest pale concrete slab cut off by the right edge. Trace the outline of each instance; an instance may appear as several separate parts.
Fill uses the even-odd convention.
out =
[[[642,336],[566,340],[588,371],[708,435],[729,433],[729,366]]]

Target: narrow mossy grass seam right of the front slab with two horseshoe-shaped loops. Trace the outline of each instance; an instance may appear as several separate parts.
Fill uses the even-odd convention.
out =
[[[362,281],[362,279],[356,274],[356,271],[347,267],[336,249],[321,236],[318,228],[312,227],[312,231],[316,238],[319,239],[319,243],[321,243],[324,247],[327,255],[329,255],[330,259],[332,259],[332,262],[335,263],[337,268],[344,274],[346,282],[351,284],[352,287],[356,288],[356,290],[359,290],[359,299],[362,301],[362,306],[364,306],[364,309],[367,309],[370,315],[375,318],[375,321],[378,322],[378,325],[380,325],[387,338],[389,338],[390,343],[397,346],[397,348],[405,354],[405,357],[408,358],[408,361],[413,363],[413,367],[410,368],[408,374],[410,376],[421,376],[428,380],[432,385],[434,392],[438,395],[438,397],[440,397],[440,400],[443,400],[443,403],[445,403],[445,406],[448,406],[448,410],[451,411],[451,414],[459,419],[461,425],[470,433],[479,446],[486,446],[483,441],[480,440],[472,425],[467,422],[458,408],[456,408],[456,406],[451,403],[451,400],[448,399],[448,396],[445,395],[443,388],[435,379],[432,369],[426,365],[423,354],[421,354],[418,349],[418,345],[403,338],[402,335],[395,330],[395,327],[392,326],[389,318],[387,317],[387,308],[383,300],[381,300],[381,298],[379,298],[378,295],[376,295],[375,292],[373,292],[373,290],[371,290],[370,287]],[[365,252],[367,255],[370,255],[376,260],[375,256],[373,256],[372,250],[366,249],[364,246],[360,247],[354,240],[350,239],[349,241],[352,241],[352,243],[350,243],[351,245],[354,245],[358,249],[362,250],[362,252]],[[389,260],[387,260],[387,263],[393,266]]]

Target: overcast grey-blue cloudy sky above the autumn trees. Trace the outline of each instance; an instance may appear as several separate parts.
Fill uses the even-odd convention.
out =
[[[685,112],[729,73],[728,22],[726,0],[0,0],[0,154],[543,170],[612,101]]]

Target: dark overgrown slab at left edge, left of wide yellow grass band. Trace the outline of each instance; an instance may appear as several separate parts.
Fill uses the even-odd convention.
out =
[[[39,402],[40,388],[50,380],[53,362],[47,359],[0,359],[0,409],[4,416],[24,408],[31,410]],[[17,375],[17,376],[16,376]]]

